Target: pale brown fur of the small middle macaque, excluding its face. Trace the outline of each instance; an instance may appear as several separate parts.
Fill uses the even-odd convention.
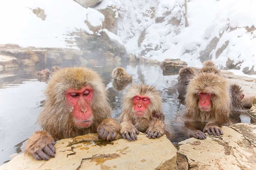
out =
[[[161,135],[163,135],[164,114],[162,112],[162,99],[160,95],[160,91],[156,90],[154,86],[149,86],[148,84],[143,83],[132,84],[128,88],[128,91],[124,96],[124,101],[122,105],[123,110],[120,116],[120,122],[122,125],[122,130],[120,131],[120,133],[132,133],[134,131],[133,128],[135,128],[137,130],[140,130],[141,132],[148,131],[147,135],[154,132],[157,132],[158,134],[161,133]],[[147,96],[150,98],[150,103],[147,106],[147,111],[143,117],[138,117],[135,114],[135,111],[133,109],[134,96]],[[151,135],[149,138],[151,138]]]

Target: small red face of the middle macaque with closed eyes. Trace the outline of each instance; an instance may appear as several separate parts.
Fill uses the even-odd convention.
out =
[[[147,110],[147,106],[150,103],[149,97],[144,96],[134,96],[133,104],[134,104],[134,111],[137,116],[144,116]]]

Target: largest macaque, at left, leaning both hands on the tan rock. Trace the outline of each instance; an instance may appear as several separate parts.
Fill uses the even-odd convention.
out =
[[[86,67],[62,68],[48,82],[46,100],[36,123],[41,131],[27,141],[25,154],[36,160],[55,157],[56,140],[88,133],[112,141],[121,126],[111,117],[112,109],[101,77]]]

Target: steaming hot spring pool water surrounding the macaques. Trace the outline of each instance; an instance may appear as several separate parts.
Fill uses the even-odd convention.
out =
[[[167,74],[159,65],[135,63],[100,64],[98,62],[97,67],[94,67],[93,63],[88,63],[86,66],[92,67],[104,79],[110,94],[114,118],[118,120],[120,117],[121,98],[127,87],[120,88],[120,84],[116,84],[112,79],[111,72],[115,67],[121,66],[133,76],[132,83],[151,84],[162,92],[165,124],[175,132],[171,141],[176,143],[187,139],[183,134],[178,113],[184,106],[178,99],[177,89],[172,87],[177,82],[177,72]],[[51,67],[47,68],[51,70]],[[0,165],[10,160],[10,155],[19,153],[22,142],[34,131],[39,130],[39,126],[34,123],[42,109],[42,102],[45,99],[43,92],[47,86],[47,83],[39,81],[36,75],[36,72],[41,69],[44,68],[12,68],[0,71]]]

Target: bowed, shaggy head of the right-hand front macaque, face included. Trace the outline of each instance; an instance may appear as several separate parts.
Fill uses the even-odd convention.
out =
[[[202,72],[191,79],[187,88],[186,108],[216,112],[229,106],[229,87],[224,77],[212,72]]]

